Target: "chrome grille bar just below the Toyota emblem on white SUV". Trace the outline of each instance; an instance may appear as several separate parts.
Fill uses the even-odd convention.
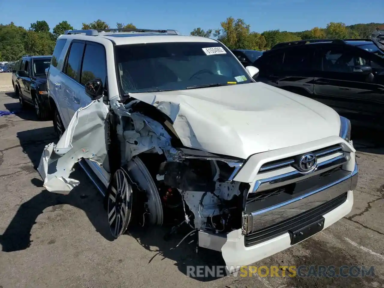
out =
[[[319,173],[322,173],[322,172],[325,172],[327,170],[330,170],[330,169],[333,169],[334,167],[336,166],[339,166],[341,165],[342,163],[338,163],[336,164],[335,166],[331,166],[329,167],[327,170],[326,169],[321,169],[322,166],[325,166],[327,164],[330,164],[332,162],[336,162],[338,160],[342,160],[344,159],[345,162],[347,161],[346,158],[344,157],[344,155],[340,155],[340,156],[337,156],[337,157],[334,157],[332,159],[329,159],[329,160],[326,160],[326,161],[323,161],[321,163],[318,164],[318,169],[316,169],[315,171],[313,171],[312,173],[310,174],[302,174],[300,173],[299,171],[295,170],[295,171],[292,171],[292,172],[288,172],[288,173],[285,173],[285,174],[281,174],[281,175],[276,175],[276,176],[273,176],[273,177],[270,177],[270,178],[266,178],[266,179],[260,179],[260,180],[257,180],[256,181],[256,184],[255,184],[255,187],[253,188],[252,192],[250,193],[255,193],[257,192],[257,190],[260,188],[260,186],[262,184],[265,184],[265,183],[270,183],[270,182],[273,182],[273,181],[276,181],[276,180],[280,180],[278,182],[274,182],[274,183],[271,183],[271,184],[276,184],[278,183],[279,186],[283,186],[285,184],[289,184],[288,181],[291,180],[293,182],[297,182],[299,180],[303,180],[303,179],[306,179],[308,177],[312,177],[314,175],[317,175]],[[295,176],[295,177],[293,177]],[[287,180],[284,180],[284,178],[289,178]],[[287,183],[285,183],[287,181]],[[268,189],[271,189],[272,187],[268,187]],[[263,189],[265,190],[265,189]]]

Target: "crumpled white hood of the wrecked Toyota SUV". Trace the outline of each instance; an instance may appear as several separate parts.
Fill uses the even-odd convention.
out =
[[[243,159],[339,135],[332,108],[261,82],[130,96],[167,114],[186,147]]]

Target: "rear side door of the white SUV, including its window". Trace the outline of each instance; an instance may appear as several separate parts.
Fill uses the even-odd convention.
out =
[[[84,87],[80,84],[81,60],[85,48],[85,41],[73,40],[66,56],[61,83],[62,98],[65,102],[66,114],[63,122],[68,126],[74,113],[80,108],[81,95]]]

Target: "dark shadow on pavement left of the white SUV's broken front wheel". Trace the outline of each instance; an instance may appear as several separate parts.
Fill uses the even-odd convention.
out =
[[[37,169],[41,153],[46,144],[56,142],[53,127],[39,128],[17,133],[23,152],[28,155]],[[83,210],[91,223],[104,238],[112,241],[109,232],[108,220],[103,207],[103,197],[92,187],[91,180],[86,177],[81,168],[76,165],[71,177],[78,179],[80,184],[70,194],[62,195],[42,190],[39,194],[20,205],[12,221],[3,235],[0,235],[0,243],[3,252],[24,250],[31,245],[31,229],[36,223],[36,218],[48,207],[60,208],[67,204]],[[31,179],[31,185],[43,187],[43,181],[39,178]]]

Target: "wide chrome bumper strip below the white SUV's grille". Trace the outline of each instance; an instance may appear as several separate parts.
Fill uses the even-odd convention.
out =
[[[357,182],[358,166],[343,178],[308,192],[294,199],[249,214],[243,212],[243,234],[270,227],[288,218],[299,215],[354,189]]]

